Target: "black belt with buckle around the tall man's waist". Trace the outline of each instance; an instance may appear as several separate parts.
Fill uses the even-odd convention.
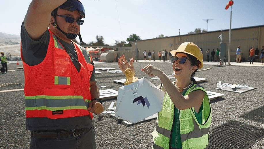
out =
[[[58,138],[58,134],[60,135],[60,137],[69,137],[69,136],[76,137],[78,135],[81,135],[82,133],[86,133],[90,129],[91,128],[81,128],[81,129],[73,129],[69,131],[66,130],[64,132],[62,131],[56,133],[39,133],[36,131],[32,131],[32,136],[37,138],[48,138],[48,139]]]

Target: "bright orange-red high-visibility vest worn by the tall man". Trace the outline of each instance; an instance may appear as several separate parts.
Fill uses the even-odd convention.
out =
[[[74,43],[81,64],[78,72],[62,44],[49,32],[44,60],[34,66],[23,61],[26,117],[57,119],[90,115],[93,118],[87,110],[91,101],[89,81],[93,65],[86,62],[80,45]]]

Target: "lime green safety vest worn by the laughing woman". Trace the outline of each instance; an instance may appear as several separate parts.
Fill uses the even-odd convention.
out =
[[[199,124],[194,108],[180,110],[180,136],[182,148],[208,148],[208,133],[212,120],[211,105],[206,90],[194,84],[190,87],[185,95],[195,91],[203,90],[205,92],[203,98],[202,124]],[[168,93],[165,94],[161,111],[158,113],[156,129],[151,133],[153,136],[154,149],[169,149],[171,129],[174,122],[174,104],[169,98]]]

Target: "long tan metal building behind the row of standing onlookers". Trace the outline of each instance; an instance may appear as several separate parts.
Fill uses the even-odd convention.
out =
[[[218,37],[219,35],[221,35],[221,33],[222,44],[220,49],[221,40]],[[229,29],[164,38],[131,41],[130,43],[132,44],[132,51],[135,49],[139,49],[139,59],[143,59],[142,52],[144,50],[155,50],[155,57],[156,59],[158,59],[159,51],[166,49],[169,52],[172,49],[177,49],[183,42],[194,42],[197,46],[202,48],[203,60],[206,59],[207,49],[210,49],[210,51],[214,49],[214,51],[216,51],[216,48],[218,47],[222,52],[225,51],[225,57],[227,61],[229,47]],[[230,62],[235,62],[237,46],[241,46],[240,50],[243,53],[242,58],[245,62],[248,62],[250,47],[254,46],[255,49],[258,48],[259,50],[261,50],[261,46],[264,46],[264,25],[235,28],[231,30]]]

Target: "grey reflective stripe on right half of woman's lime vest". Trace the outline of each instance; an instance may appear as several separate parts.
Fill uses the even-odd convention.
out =
[[[199,125],[195,122],[194,119],[193,119],[193,128],[194,128],[193,131],[190,131],[192,135],[190,135],[190,133],[181,134],[182,142],[186,141],[187,139],[199,138],[202,137],[203,135],[207,135],[210,129],[210,127],[208,127],[208,128],[201,128],[201,130],[199,130]]]

